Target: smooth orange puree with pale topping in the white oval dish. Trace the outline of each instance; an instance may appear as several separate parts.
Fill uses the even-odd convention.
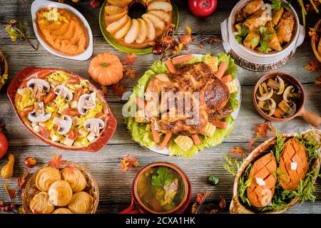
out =
[[[86,50],[86,36],[78,18],[64,9],[40,9],[37,23],[46,41],[57,51],[76,56]]]

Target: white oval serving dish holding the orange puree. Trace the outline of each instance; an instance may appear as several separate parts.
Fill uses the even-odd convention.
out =
[[[77,18],[83,24],[83,28],[85,29],[86,41],[88,42],[86,51],[77,56],[69,56],[65,53],[62,53],[61,51],[57,51],[56,49],[52,48],[52,46],[43,38],[42,33],[36,23],[36,13],[37,11],[39,11],[39,9],[44,9],[49,6],[58,9],[67,9],[68,11],[71,11],[71,13],[73,13],[75,16],[77,16]],[[55,56],[74,59],[78,61],[85,61],[88,58],[91,58],[91,56],[93,55],[93,33],[91,32],[91,26],[89,26],[88,21],[85,19],[85,17],[75,8],[67,4],[62,4],[54,1],[36,0],[31,4],[31,16],[32,24],[34,26],[34,33],[36,34],[39,43],[41,43],[41,45],[50,53],[54,54]]]

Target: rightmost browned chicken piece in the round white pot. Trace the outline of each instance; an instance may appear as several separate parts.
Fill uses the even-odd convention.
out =
[[[277,38],[281,44],[291,41],[294,24],[295,21],[293,14],[285,11],[276,27]]]

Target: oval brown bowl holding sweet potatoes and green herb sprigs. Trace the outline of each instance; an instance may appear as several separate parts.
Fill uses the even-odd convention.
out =
[[[305,133],[302,133],[302,136],[304,137],[305,135],[309,133],[315,133],[315,138],[317,140],[320,140],[321,137],[321,131],[317,129],[312,129],[312,130],[307,130]],[[294,137],[296,134],[284,134],[282,135],[282,138],[289,139]],[[233,198],[232,201],[230,202],[230,213],[233,214],[253,214],[256,213],[253,209],[250,209],[247,205],[243,204],[240,202],[240,198],[238,197],[238,183],[240,180],[240,177],[243,176],[243,173],[245,172],[246,168],[248,165],[250,165],[252,162],[254,162],[258,157],[263,155],[263,153],[267,152],[268,150],[271,149],[271,146],[275,144],[276,138],[270,138],[269,140],[266,140],[262,144],[260,144],[258,147],[253,150],[253,152],[246,157],[242,165],[240,165],[240,168],[238,169],[238,174],[235,176],[234,180],[234,185],[233,185]],[[320,155],[320,148],[317,151]],[[314,161],[312,161],[310,165],[310,169],[313,167],[317,170],[316,175],[312,177],[312,182],[315,182],[317,180],[317,174],[319,173],[320,170],[320,164],[321,164],[321,157],[318,157]],[[312,166],[312,167],[311,167]],[[299,202],[299,197],[294,197],[287,207],[285,209],[282,209],[280,211],[267,211],[267,212],[260,212],[262,214],[280,214],[282,212],[287,211],[288,209],[292,208],[297,202]]]

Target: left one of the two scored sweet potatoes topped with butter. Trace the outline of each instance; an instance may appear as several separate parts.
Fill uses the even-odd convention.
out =
[[[255,161],[250,170],[251,184],[248,199],[253,207],[265,207],[271,202],[275,190],[277,164],[272,152]]]

